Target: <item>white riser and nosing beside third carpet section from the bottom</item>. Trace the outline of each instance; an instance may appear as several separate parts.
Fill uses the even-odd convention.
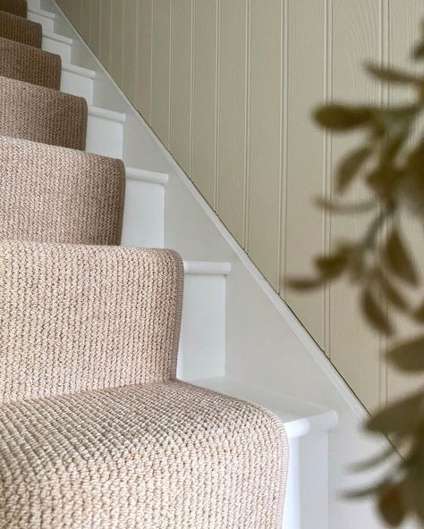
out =
[[[164,248],[167,182],[163,172],[126,168],[123,246]]]

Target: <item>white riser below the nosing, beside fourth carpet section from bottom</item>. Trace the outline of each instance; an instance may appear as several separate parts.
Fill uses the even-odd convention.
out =
[[[86,150],[96,155],[122,158],[123,123],[89,114]]]

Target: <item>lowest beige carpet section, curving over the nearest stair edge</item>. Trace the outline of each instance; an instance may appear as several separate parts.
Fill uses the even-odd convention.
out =
[[[6,404],[0,451],[1,527],[280,527],[282,426],[181,382]]]

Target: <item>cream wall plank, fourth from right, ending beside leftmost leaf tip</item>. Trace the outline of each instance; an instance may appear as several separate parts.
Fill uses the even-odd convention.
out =
[[[250,3],[247,250],[278,290],[282,182],[283,3]]]

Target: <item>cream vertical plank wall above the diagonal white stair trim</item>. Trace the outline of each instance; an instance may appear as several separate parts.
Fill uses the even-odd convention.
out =
[[[363,403],[375,407],[407,389],[411,381],[386,366],[384,344],[348,285],[304,295],[286,291],[284,277],[310,273],[312,256],[364,229],[313,205],[333,197],[332,171],[355,139],[323,134],[310,112],[332,98],[396,97],[362,63],[403,65],[421,0],[59,4]],[[363,195],[352,188],[353,198]]]

